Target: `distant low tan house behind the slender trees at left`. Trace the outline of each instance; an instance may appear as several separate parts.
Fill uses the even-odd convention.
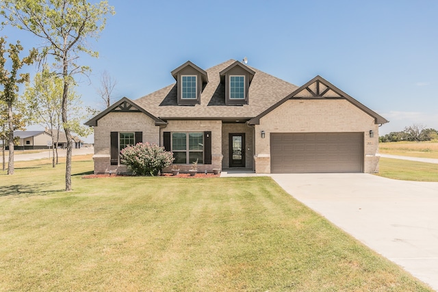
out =
[[[54,131],[55,140],[57,132]],[[31,149],[48,149],[51,145],[51,132],[47,129],[43,131],[14,131],[14,137],[18,137],[18,145],[14,146],[16,150],[31,150]],[[82,148],[83,141],[73,136],[73,148]],[[58,140],[58,148],[67,147],[66,133],[60,131]],[[7,147],[8,148],[8,147]]]

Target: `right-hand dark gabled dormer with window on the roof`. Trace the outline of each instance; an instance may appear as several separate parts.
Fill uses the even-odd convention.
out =
[[[219,72],[220,81],[225,84],[226,105],[248,105],[248,91],[255,71],[236,61]]]

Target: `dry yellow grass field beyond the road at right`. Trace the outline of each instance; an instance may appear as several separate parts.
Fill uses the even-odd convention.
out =
[[[387,142],[379,143],[378,151],[384,154],[438,159],[438,142]]]

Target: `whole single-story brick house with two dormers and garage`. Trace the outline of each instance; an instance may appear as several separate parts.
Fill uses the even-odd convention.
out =
[[[120,150],[138,142],[172,151],[183,171],[193,161],[202,172],[378,170],[378,127],[388,121],[320,76],[298,87],[235,60],[170,73],[175,83],[86,122],[95,173],[126,172]]]

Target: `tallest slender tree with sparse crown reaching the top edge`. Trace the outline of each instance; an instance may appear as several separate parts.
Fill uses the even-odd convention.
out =
[[[44,57],[53,57],[62,76],[62,122],[67,137],[65,189],[70,191],[73,142],[69,139],[68,90],[75,74],[89,70],[78,64],[79,53],[98,56],[88,48],[86,40],[99,37],[106,16],[114,14],[114,8],[107,1],[90,4],[86,0],[3,0],[3,7],[1,14],[11,25],[44,40]]]

